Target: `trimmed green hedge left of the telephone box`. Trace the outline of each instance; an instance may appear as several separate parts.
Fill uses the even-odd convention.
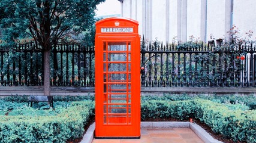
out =
[[[53,116],[0,116],[1,142],[66,142],[83,135],[94,102],[71,102]]]

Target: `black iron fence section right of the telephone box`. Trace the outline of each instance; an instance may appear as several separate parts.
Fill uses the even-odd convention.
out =
[[[141,86],[255,87],[255,43],[141,46]]]

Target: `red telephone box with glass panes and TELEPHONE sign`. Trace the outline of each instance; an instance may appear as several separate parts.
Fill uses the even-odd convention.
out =
[[[96,23],[95,138],[140,138],[140,36],[138,22]]]

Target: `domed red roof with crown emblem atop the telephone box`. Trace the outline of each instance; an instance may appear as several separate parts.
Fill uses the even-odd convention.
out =
[[[132,33],[138,33],[138,21],[124,17],[110,17],[97,21],[96,33],[101,33],[101,27],[134,27]]]

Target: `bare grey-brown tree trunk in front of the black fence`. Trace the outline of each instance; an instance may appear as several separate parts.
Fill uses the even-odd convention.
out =
[[[44,51],[44,96],[50,96],[50,50]]]

